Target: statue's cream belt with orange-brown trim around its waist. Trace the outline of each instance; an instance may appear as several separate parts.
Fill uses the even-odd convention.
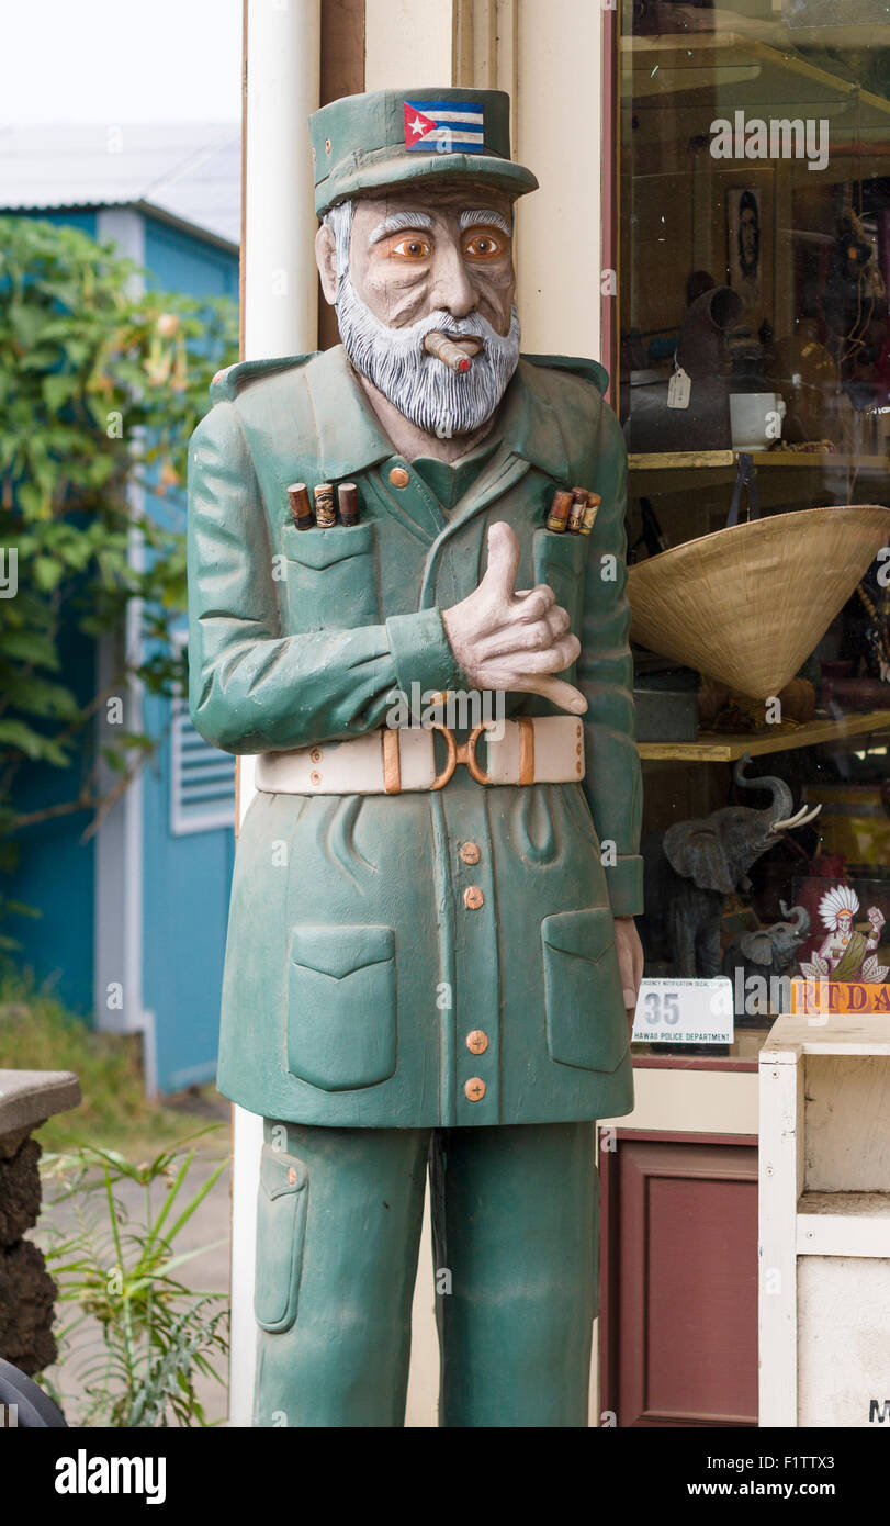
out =
[[[476,758],[482,731],[487,769]],[[348,742],[325,742],[292,752],[261,752],[255,786],[270,795],[400,795],[443,789],[458,763],[479,784],[569,784],[583,778],[585,739],[574,716],[524,716],[521,720],[475,726],[460,743],[447,726],[382,726]],[[447,746],[437,771],[434,734]]]

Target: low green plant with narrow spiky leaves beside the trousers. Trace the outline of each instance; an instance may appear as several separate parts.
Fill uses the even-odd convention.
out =
[[[189,1289],[173,1273],[214,1248],[176,1250],[226,1169],[223,1160],[186,1198],[192,1140],[211,1129],[139,1166],[90,1146],[46,1158],[47,1181],[56,1189],[49,1199],[52,1244],[46,1260],[60,1303],[75,1311],[56,1332],[61,1375],[78,1381],[84,1425],[208,1424],[195,1378],[224,1381],[214,1363],[227,1352],[227,1300],[220,1293]],[[130,1222],[114,1190],[124,1181],[142,1189],[139,1224]],[[160,1207],[151,1192],[156,1183],[166,1189]],[[63,1230],[58,1225],[66,1219],[72,1227]],[[64,1392],[46,1386],[64,1407]]]

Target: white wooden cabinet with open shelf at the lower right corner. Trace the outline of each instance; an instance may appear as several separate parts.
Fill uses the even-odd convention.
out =
[[[890,1016],[760,1051],[760,1425],[890,1428]]]

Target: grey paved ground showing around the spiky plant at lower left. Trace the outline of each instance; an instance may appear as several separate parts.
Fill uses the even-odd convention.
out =
[[[188,1103],[185,1105],[183,1111],[189,1111]],[[200,1108],[200,1114],[198,1117],[195,1117],[194,1122],[200,1126],[200,1117],[208,1114],[220,1117],[223,1122],[227,1123],[229,1105],[221,1097],[218,1099],[218,1106],[217,1105],[208,1106],[206,1103],[203,1103]],[[180,1193],[183,1207],[189,1201],[192,1193],[198,1190],[200,1184],[206,1181],[208,1175],[212,1173],[214,1166],[220,1163],[220,1157],[224,1155],[227,1149],[229,1149],[227,1131],[220,1129],[217,1134],[212,1135],[212,1144],[208,1148],[208,1151],[214,1152],[214,1160],[195,1158],[194,1166],[189,1170],[189,1175]],[[188,1190],[189,1183],[191,1183],[191,1190]],[[154,1212],[157,1212],[157,1207],[163,1201],[163,1192],[165,1192],[163,1184],[157,1183],[153,1189]],[[116,1187],[116,1195],[119,1196],[127,1212],[130,1225],[143,1224],[145,1222],[143,1189],[139,1187],[136,1183],[125,1181]],[[198,1250],[200,1247],[211,1247],[203,1250],[200,1256],[195,1256],[194,1260],[186,1262],[182,1268],[177,1268],[174,1271],[174,1276],[180,1282],[183,1282],[186,1286],[195,1291],[209,1291],[209,1293],[229,1291],[229,1238],[231,1238],[229,1207],[231,1207],[229,1169],[226,1166],[226,1170],[223,1172],[220,1180],[215,1183],[214,1187],[211,1187],[211,1192],[208,1193],[202,1206],[195,1210],[189,1222],[183,1227],[176,1241],[176,1251],[179,1253]],[[52,1213],[53,1213],[53,1228],[64,1230],[66,1213],[70,1215],[70,1210],[66,1210],[66,1213],[63,1213],[56,1207],[52,1210]],[[34,1233],[34,1239],[37,1239],[40,1244],[46,1247],[46,1239],[47,1239],[46,1210],[38,1224],[37,1231]],[[63,1306],[61,1311],[63,1317],[66,1308],[67,1306]],[[99,1352],[102,1349],[102,1338],[98,1323],[90,1322],[89,1326],[84,1326],[82,1332],[78,1332],[78,1337],[79,1340],[84,1341],[84,1346],[89,1343],[93,1352]],[[81,1358],[76,1358],[73,1361],[67,1361],[64,1364],[64,1370],[61,1364],[58,1364],[56,1367],[52,1367],[49,1372],[49,1376],[52,1376],[53,1383],[66,1393],[66,1416],[69,1419],[69,1424],[75,1425],[78,1424],[81,1401],[82,1401],[82,1387],[78,1381],[78,1375],[75,1370],[79,1364]],[[224,1361],[221,1363],[220,1370],[224,1378],[226,1376]],[[198,1378],[197,1389],[202,1402],[205,1405],[208,1421],[224,1419],[226,1389],[209,1378]]]

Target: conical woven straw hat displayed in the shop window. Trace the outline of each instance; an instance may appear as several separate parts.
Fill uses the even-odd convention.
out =
[[[884,545],[890,508],[875,504],[717,530],[629,569],[630,638],[768,699],[794,678]]]

